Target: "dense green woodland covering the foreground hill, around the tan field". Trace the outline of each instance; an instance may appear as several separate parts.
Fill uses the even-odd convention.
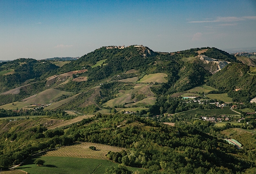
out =
[[[4,125],[7,122],[1,121],[0,126]],[[247,158],[246,149],[237,150],[225,141],[204,133],[219,130],[212,123],[200,120],[192,123],[180,122],[175,127],[170,127],[142,118],[139,114],[98,114],[62,129],[47,130],[42,125],[29,129],[18,126],[16,129],[20,131],[0,131],[1,140],[6,139],[1,141],[0,146],[1,167],[9,166],[13,161],[19,163],[39,150],[75,141],[125,147],[126,151],[109,152],[107,157],[116,163],[145,168],[142,172],[145,174],[212,171],[236,173],[256,167]],[[20,146],[22,148],[18,148]],[[236,157],[238,154],[240,157]],[[129,172],[122,166],[108,169],[108,172],[115,170]]]

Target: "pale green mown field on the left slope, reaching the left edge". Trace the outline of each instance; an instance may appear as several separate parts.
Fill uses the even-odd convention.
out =
[[[56,89],[48,89],[43,92],[40,92],[33,98],[29,97],[28,100],[24,99],[25,101],[13,102],[14,105],[12,103],[9,103],[7,105],[0,106],[0,108],[15,110],[17,107],[18,109],[21,109],[22,107],[31,105],[33,103],[49,104],[52,100],[57,99],[58,97],[61,97],[61,95],[68,95],[68,94],[70,94],[70,92],[56,90]]]

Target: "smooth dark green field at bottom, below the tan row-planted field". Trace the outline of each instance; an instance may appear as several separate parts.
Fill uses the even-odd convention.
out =
[[[36,158],[33,158],[17,169],[29,174],[103,174],[107,168],[118,166],[117,163],[103,159],[46,156],[39,158],[46,161],[43,166],[35,165]],[[127,168],[142,171],[141,168]]]

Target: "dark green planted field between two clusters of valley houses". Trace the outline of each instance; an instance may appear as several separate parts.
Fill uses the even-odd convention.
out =
[[[175,115],[177,116],[190,116],[195,117],[195,114],[202,114],[202,115],[208,115],[208,116],[219,116],[219,115],[238,115],[236,112],[229,109],[229,107],[224,107],[223,109],[214,109],[214,110],[189,110],[185,112],[179,112]]]

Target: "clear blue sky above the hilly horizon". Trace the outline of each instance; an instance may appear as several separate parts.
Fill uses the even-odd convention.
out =
[[[0,0],[0,60],[256,47],[255,0]]]

